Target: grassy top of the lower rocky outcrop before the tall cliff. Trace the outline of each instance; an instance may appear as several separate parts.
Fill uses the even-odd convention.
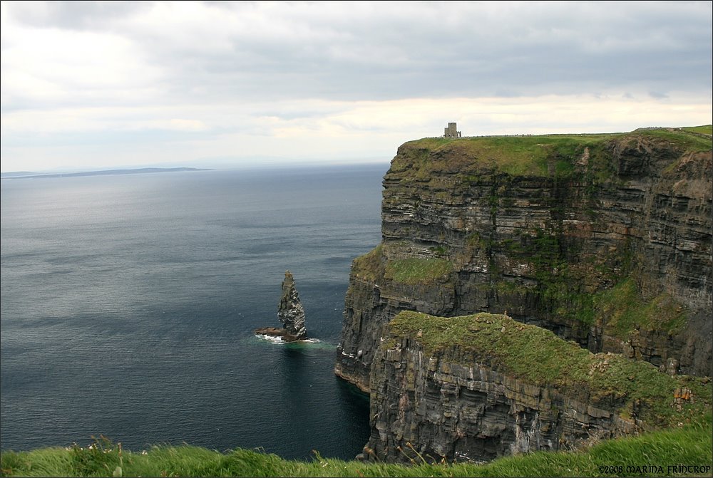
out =
[[[707,378],[670,377],[650,363],[623,355],[590,353],[563,341],[543,328],[490,313],[436,317],[404,311],[389,323],[393,346],[401,338],[421,344],[424,352],[461,365],[478,363],[533,385],[552,386],[563,395],[585,402],[622,403],[621,415],[630,415],[636,402],[638,417],[647,425],[671,425],[700,416],[711,407]],[[688,388],[693,399],[678,410],[677,389]],[[606,407],[606,405],[601,405]]]

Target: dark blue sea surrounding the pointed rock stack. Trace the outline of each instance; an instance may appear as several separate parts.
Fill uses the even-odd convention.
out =
[[[103,434],[354,457],[368,399],[332,370],[386,169],[3,180],[1,448]],[[285,269],[320,343],[252,333],[279,326]]]

